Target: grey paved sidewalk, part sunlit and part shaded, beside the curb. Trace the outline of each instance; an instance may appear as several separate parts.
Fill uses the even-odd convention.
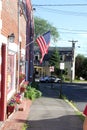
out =
[[[33,102],[27,130],[82,130],[83,121],[62,99],[41,97]]]

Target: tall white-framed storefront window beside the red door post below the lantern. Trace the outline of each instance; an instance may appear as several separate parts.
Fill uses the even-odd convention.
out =
[[[11,90],[14,85],[14,55],[10,54],[8,55],[7,63],[8,63],[7,87],[8,90]]]

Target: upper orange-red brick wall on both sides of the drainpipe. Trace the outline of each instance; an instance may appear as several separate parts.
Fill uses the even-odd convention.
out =
[[[2,34],[8,36],[11,33],[15,34],[15,42],[18,43],[18,0],[3,0],[2,1]],[[26,42],[26,22],[23,15],[19,21],[20,35],[22,44]],[[23,45],[22,45],[23,46]]]

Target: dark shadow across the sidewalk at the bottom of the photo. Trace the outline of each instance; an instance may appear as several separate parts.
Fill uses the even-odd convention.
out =
[[[69,115],[59,118],[26,121],[26,130],[82,130],[83,121],[78,116]]]

